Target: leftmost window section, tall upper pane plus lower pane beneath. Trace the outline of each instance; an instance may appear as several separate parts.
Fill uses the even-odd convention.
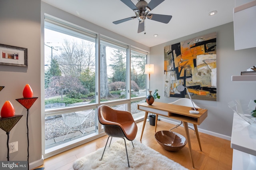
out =
[[[96,35],[56,23],[44,29],[46,150],[96,133]]]

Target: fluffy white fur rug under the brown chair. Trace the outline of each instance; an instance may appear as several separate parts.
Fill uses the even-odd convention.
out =
[[[128,167],[124,139],[106,147],[104,156],[100,161],[104,148],[100,148],[73,163],[74,170],[188,170],[177,162],[170,160],[159,152],[145,146],[137,140],[126,140],[130,168]]]

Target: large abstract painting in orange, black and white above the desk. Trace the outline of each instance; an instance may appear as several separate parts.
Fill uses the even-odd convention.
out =
[[[164,47],[164,96],[217,100],[216,32]]]

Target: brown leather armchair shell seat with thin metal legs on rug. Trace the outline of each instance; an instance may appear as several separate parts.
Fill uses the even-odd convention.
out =
[[[100,121],[100,124],[104,125],[104,130],[108,135],[108,139],[110,136],[111,136],[111,140],[112,140],[112,137],[118,137],[118,138],[124,139],[128,166],[130,167],[125,138],[130,141],[134,140],[138,131],[138,127],[134,122],[132,114],[128,111],[119,111],[119,110],[112,109],[107,105],[100,105],[98,107],[98,119]],[[111,144],[111,140],[110,140],[110,144]],[[106,142],[106,145],[100,160],[102,160],[103,158],[107,144],[108,144],[108,140]],[[132,146],[134,147],[133,143],[132,143]]]

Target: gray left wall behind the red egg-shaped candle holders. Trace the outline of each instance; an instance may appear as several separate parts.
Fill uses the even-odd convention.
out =
[[[28,127],[30,162],[42,158],[41,147],[41,78],[40,78],[40,0],[0,1],[0,43],[28,48],[28,67],[0,65],[0,108],[9,100],[16,115],[23,115],[10,131],[9,142],[18,141],[18,152],[10,153],[10,160],[27,160],[26,109],[15,99],[21,98],[24,86],[29,84],[35,97],[30,108]],[[0,160],[7,160],[7,135],[0,129]]]

